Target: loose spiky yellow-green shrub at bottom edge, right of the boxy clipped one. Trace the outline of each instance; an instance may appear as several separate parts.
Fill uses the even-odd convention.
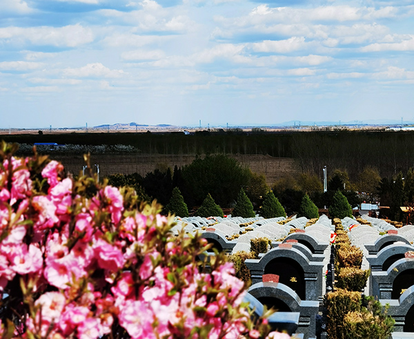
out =
[[[346,339],[388,339],[391,338],[395,320],[387,316],[388,307],[382,307],[373,297],[366,298],[366,307],[352,311],[344,318]]]

